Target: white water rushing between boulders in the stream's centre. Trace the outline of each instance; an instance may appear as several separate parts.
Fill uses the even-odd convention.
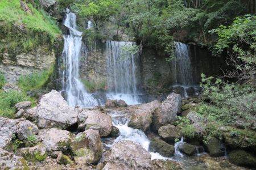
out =
[[[129,118],[120,117],[123,115],[119,114],[118,112],[112,112],[110,113],[110,116],[112,117],[113,125],[119,129],[119,133],[120,133],[119,137],[115,139],[114,143],[122,140],[133,141],[135,143],[138,143],[145,150],[148,151],[150,140],[147,138],[146,134],[144,134],[142,130],[128,127],[128,122],[130,121]],[[158,152],[150,152],[150,154],[151,154],[152,160],[153,159],[170,159],[160,155]]]

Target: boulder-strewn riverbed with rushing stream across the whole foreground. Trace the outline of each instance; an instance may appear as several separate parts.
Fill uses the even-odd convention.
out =
[[[70,107],[59,92],[43,95],[37,107],[15,105],[16,119],[0,117],[1,169],[246,169],[256,167],[256,133],[220,127],[222,138],[207,144],[207,122],[189,100],[171,93],[162,103]],[[195,128],[186,137],[177,117]],[[240,132],[233,135],[236,129]],[[184,138],[184,141],[183,141]],[[241,138],[243,140],[241,141]],[[241,143],[242,142],[242,143]],[[236,164],[236,165],[235,165]],[[242,167],[238,167],[242,166]]]

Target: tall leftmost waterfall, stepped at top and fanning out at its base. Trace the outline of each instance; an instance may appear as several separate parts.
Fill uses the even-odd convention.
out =
[[[88,94],[84,84],[79,79],[79,56],[81,52],[82,33],[76,29],[76,15],[66,10],[64,20],[65,27],[68,27],[70,35],[64,35],[63,49],[63,91],[67,94],[69,105],[81,107],[94,107],[102,105],[100,99]]]

